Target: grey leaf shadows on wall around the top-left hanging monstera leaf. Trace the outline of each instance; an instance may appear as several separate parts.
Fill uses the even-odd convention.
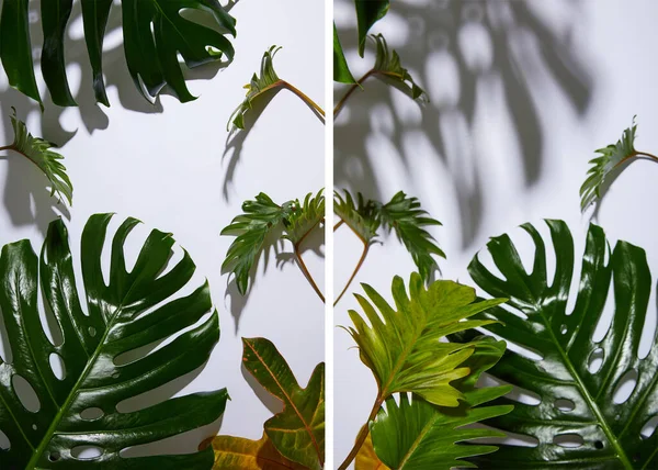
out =
[[[232,7],[234,3],[230,4]],[[204,12],[188,14],[189,19],[204,23]],[[41,75],[41,51],[43,44],[43,31],[41,23],[41,1],[30,2],[30,37],[33,47],[33,58],[36,69],[37,80],[42,79]],[[67,63],[67,76],[71,93],[78,103],[77,109],[63,108],[54,104],[49,93],[42,89],[42,99],[44,100],[45,110],[42,113],[37,102],[25,97],[18,90],[11,88],[8,83],[4,70],[0,70],[0,103],[1,120],[4,131],[5,144],[11,142],[13,130],[9,119],[10,107],[16,109],[16,116],[21,121],[27,122],[30,115],[38,118],[38,125],[34,125],[32,120],[27,122],[30,132],[35,135],[53,142],[58,147],[65,145],[78,133],[79,130],[70,130],[66,126],[67,114],[79,114],[80,121],[89,134],[94,131],[107,128],[110,123],[104,111],[104,105],[97,103],[92,83],[93,76],[91,64],[87,52],[87,44],[82,34],[82,10],[80,2],[73,2],[71,16],[68,22],[67,32],[65,35],[65,57]],[[121,4],[113,4],[107,20],[105,31],[104,52],[103,52],[103,75],[105,78],[105,87],[109,91],[111,105],[120,105],[123,109],[139,112],[139,113],[161,113],[163,111],[160,99],[156,99],[150,103],[146,100],[136,88],[133,78],[128,71],[125,60],[122,33],[122,11]],[[220,69],[225,68],[225,61],[206,64],[202,67],[189,70],[183,68],[183,74],[186,80],[211,79]],[[115,89],[118,100],[113,100],[111,91]],[[161,91],[161,94],[170,94],[167,87]],[[4,145],[4,144],[0,144]],[[56,149],[64,155],[64,165],[68,167],[70,157],[67,156],[66,147]],[[89,148],[89,155],[93,153],[93,148]],[[84,158],[80,157],[80,158]],[[25,165],[22,156],[11,153],[7,158],[7,180],[4,186],[4,205],[10,214],[14,226],[24,226],[36,224],[39,232],[44,233],[47,230],[49,222],[58,215],[69,217],[68,210],[63,208],[64,204],[57,204],[57,199],[49,198],[49,191],[45,189],[47,179],[34,168],[32,165]],[[73,190],[76,181],[72,179]],[[73,191],[75,204],[75,191]]]

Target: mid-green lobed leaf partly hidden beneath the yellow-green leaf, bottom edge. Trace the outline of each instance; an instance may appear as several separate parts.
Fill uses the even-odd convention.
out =
[[[511,390],[511,387],[476,388],[481,373],[491,368],[504,352],[504,342],[483,340],[464,366],[470,374],[455,383],[464,393],[456,409],[432,405],[419,396],[409,400],[402,393],[399,404],[394,398],[386,401],[371,425],[371,435],[377,456],[388,467],[406,470],[450,470],[453,467],[473,467],[465,457],[494,452],[497,447],[475,444],[474,439],[502,437],[502,433],[474,423],[509,413],[513,406],[481,406]],[[466,427],[465,427],[466,426]]]

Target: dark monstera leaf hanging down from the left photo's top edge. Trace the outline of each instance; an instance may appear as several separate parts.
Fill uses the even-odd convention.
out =
[[[65,32],[73,0],[41,2],[44,35],[42,72],[53,102],[76,105],[66,76]],[[109,105],[102,70],[103,37],[112,0],[81,0],[87,49],[93,71],[97,100]],[[179,65],[180,54],[188,67],[232,59],[234,48],[224,33],[190,21],[181,11],[211,13],[213,26],[236,35],[236,21],[217,0],[122,0],[123,38],[128,70],[135,86],[149,101],[168,85],[182,102],[193,100]],[[5,1],[0,15],[0,58],[9,82],[42,104],[32,61],[29,0]]]

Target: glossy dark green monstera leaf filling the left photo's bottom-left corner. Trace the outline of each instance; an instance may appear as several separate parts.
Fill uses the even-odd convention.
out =
[[[195,266],[185,254],[162,273],[171,256],[170,234],[152,231],[128,272],[124,243],[138,223],[127,219],[110,253],[110,281],[103,280],[101,251],[111,214],[92,215],[82,233],[82,278],[88,313],[76,288],[67,230],[50,224],[41,260],[30,242],[5,245],[0,257],[0,306],[9,350],[0,362],[0,429],[10,448],[0,451],[1,468],[209,468],[211,449],[179,456],[125,458],[122,449],[152,443],[209,424],[224,412],[226,390],[166,400],[137,411],[120,412],[125,400],[161,387],[201,367],[219,338],[216,312],[193,326],[212,307],[207,283],[192,294],[169,300],[185,286]],[[53,344],[39,321],[41,289],[61,335]],[[172,339],[149,355],[122,359],[125,352]],[[64,363],[64,377],[50,363]],[[22,378],[38,405],[16,393]],[[27,407],[30,406],[30,407]],[[95,412],[90,416],[87,412]],[[92,446],[98,457],[76,457]]]

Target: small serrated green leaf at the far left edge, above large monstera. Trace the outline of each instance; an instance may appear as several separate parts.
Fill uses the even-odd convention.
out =
[[[30,134],[25,123],[16,119],[16,110],[12,108],[12,111],[10,118],[14,131],[14,141],[11,145],[0,147],[0,150],[14,150],[26,157],[50,181],[50,195],[57,193],[60,200],[64,198],[71,205],[73,202],[73,187],[66,174],[66,167],[59,161],[64,157],[50,149],[54,147],[52,143]]]

